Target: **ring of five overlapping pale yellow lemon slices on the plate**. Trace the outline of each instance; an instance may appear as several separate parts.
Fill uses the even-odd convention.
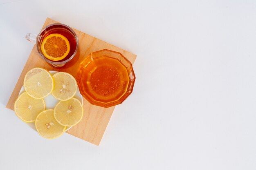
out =
[[[60,137],[67,126],[81,121],[83,106],[74,98],[77,84],[69,73],[58,72],[52,76],[43,68],[33,68],[25,75],[24,89],[16,99],[14,111],[22,121],[35,122],[42,137]],[[49,94],[60,101],[54,108],[45,110],[44,98]]]

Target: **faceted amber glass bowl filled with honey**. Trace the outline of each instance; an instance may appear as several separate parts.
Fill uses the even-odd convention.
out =
[[[119,52],[104,49],[88,55],[79,66],[76,81],[91,104],[108,108],[121,104],[132,93],[132,64]]]

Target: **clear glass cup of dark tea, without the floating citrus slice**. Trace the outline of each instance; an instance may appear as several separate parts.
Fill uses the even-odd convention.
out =
[[[62,60],[59,60],[59,61],[49,60],[47,57],[45,57],[43,55],[43,53],[41,51],[41,45],[42,45],[43,39],[53,33],[58,33],[58,34],[63,35],[65,38],[67,38],[67,40],[70,43],[70,52],[67,54],[67,56],[65,58],[63,58]],[[72,28],[70,28],[69,26],[67,26],[65,24],[58,24],[58,23],[50,24],[50,25],[46,26],[45,28],[43,28],[42,31],[40,31],[40,33],[38,35],[28,33],[26,35],[26,39],[29,40],[30,42],[33,42],[34,44],[36,44],[36,48],[37,48],[39,55],[46,62],[52,64],[55,67],[64,66],[67,62],[72,60],[72,58],[76,55],[76,52],[78,50],[79,42],[78,42],[77,35]]]

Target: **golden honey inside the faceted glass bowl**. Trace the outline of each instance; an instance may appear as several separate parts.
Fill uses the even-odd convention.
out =
[[[101,102],[118,99],[127,90],[129,76],[126,67],[117,59],[102,56],[93,60],[84,70],[81,81],[85,93],[97,97]]]

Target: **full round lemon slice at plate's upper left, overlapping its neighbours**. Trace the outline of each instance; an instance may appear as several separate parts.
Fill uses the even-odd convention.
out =
[[[52,75],[43,68],[32,68],[24,78],[24,89],[27,94],[41,99],[52,93],[54,87]]]

